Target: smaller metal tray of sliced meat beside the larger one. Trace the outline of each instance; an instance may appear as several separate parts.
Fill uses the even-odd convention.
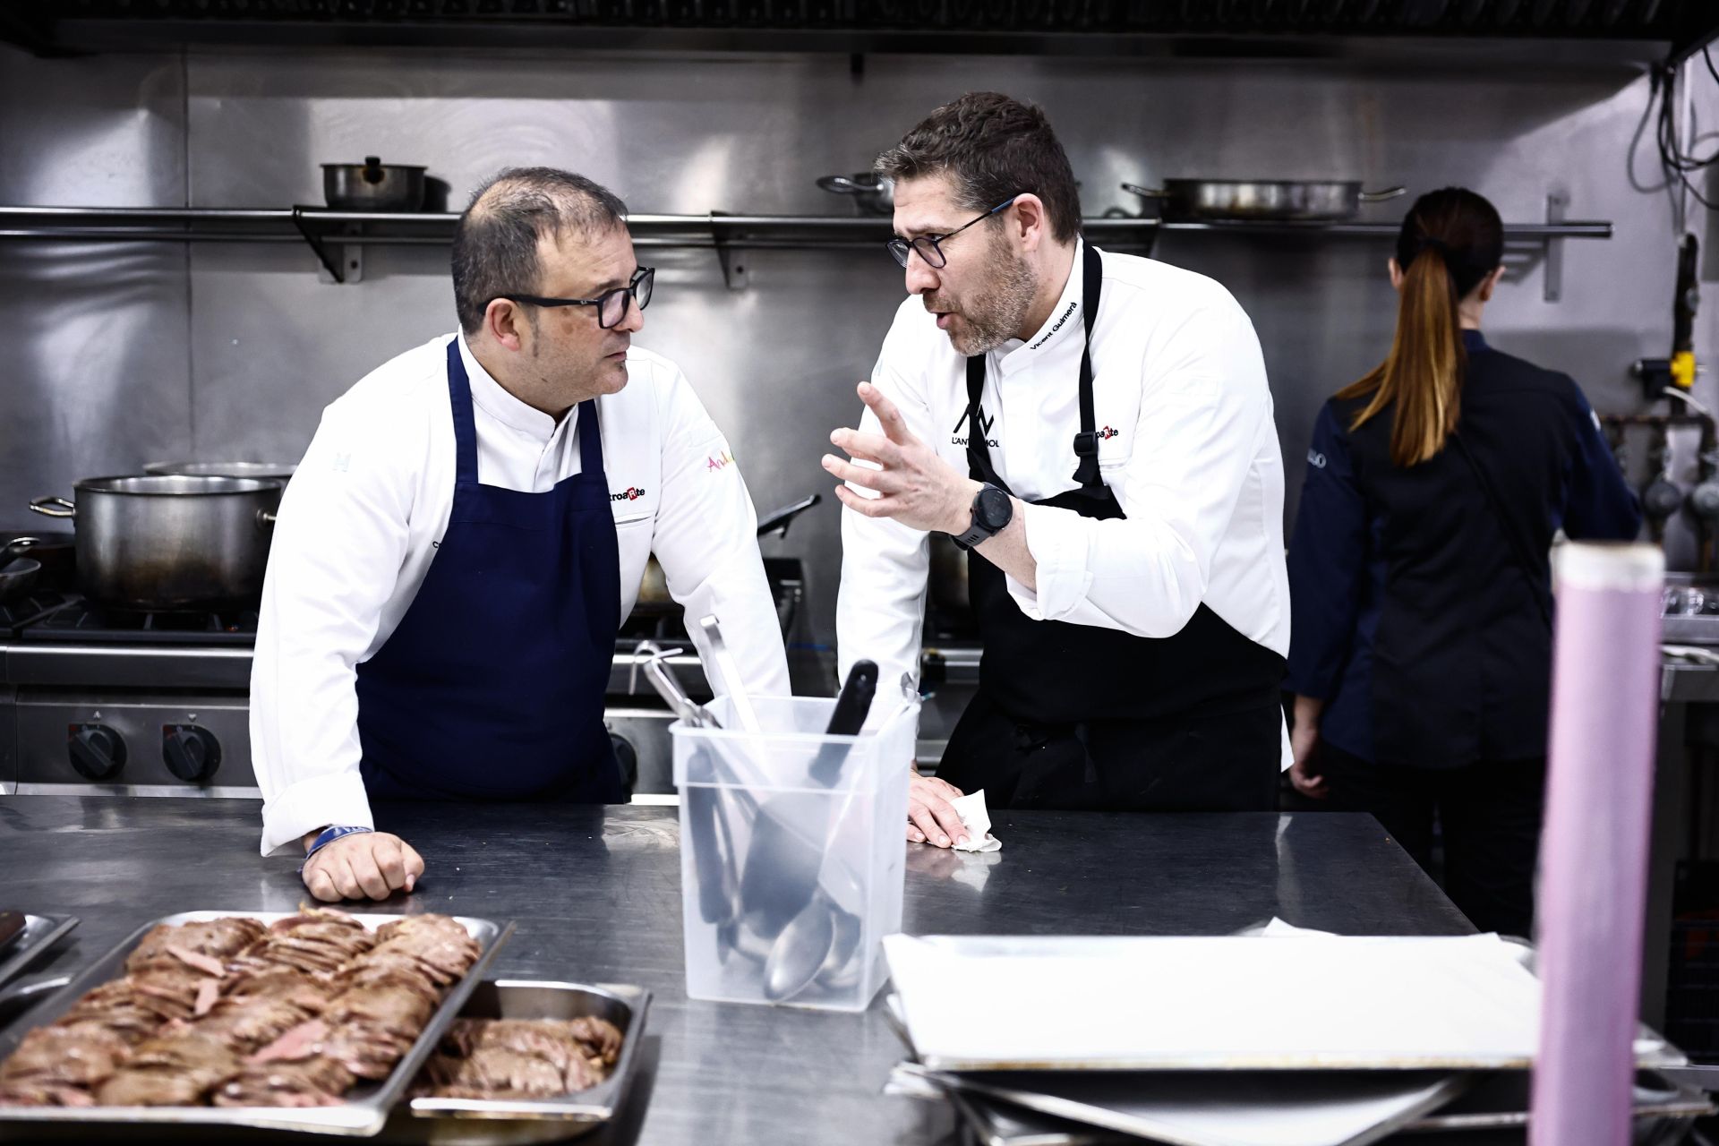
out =
[[[483,983],[413,1088],[413,1115],[607,1122],[633,1086],[648,1010],[641,986]]]

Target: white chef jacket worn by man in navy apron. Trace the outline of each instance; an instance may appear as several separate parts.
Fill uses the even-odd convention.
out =
[[[454,509],[447,344],[444,335],[401,354],[328,405],[282,498],[251,665],[265,856],[323,825],[373,823],[356,670],[411,608]],[[478,479],[547,493],[579,472],[578,409],[557,424],[490,378],[464,337],[459,352]],[[787,696],[758,519],[722,431],[674,363],[639,347],[627,351],[626,388],[596,404],[621,615],[633,612],[655,552],[689,617],[722,617],[746,687]],[[705,656],[703,631],[691,636]]]

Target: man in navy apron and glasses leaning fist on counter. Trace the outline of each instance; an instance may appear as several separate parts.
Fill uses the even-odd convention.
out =
[[[423,875],[371,801],[627,797],[603,692],[652,553],[688,615],[722,617],[744,686],[789,692],[729,443],[674,363],[633,345],[652,278],[612,192],[502,172],[456,230],[459,332],[323,412],[251,672],[261,850],[303,850],[316,899]]]

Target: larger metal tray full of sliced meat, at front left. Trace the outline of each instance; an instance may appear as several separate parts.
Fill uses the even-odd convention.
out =
[[[511,933],[330,909],[165,916],[0,1033],[0,1129],[376,1134]]]

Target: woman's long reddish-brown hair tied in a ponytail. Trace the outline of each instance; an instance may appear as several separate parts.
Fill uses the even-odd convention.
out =
[[[1360,430],[1391,407],[1391,460],[1415,466],[1444,448],[1463,409],[1468,352],[1456,306],[1504,258],[1497,208],[1466,187],[1442,187],[1415,201],[1398,232],[1403,270],[1391,354],[1339,399],[1372,400],[1355,416]]]

